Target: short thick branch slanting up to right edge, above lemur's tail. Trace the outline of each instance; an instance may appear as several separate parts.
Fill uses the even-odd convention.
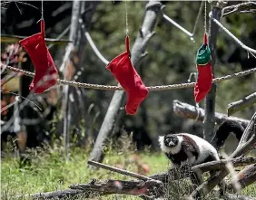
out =
[[[249,96],[246,96],[242,100],[231,102],[228,105],[228,116],[231,116],[235,112],[242,110],[246,107],[250,107],[254,103],[256,103],[256,92],[250,94]]]

